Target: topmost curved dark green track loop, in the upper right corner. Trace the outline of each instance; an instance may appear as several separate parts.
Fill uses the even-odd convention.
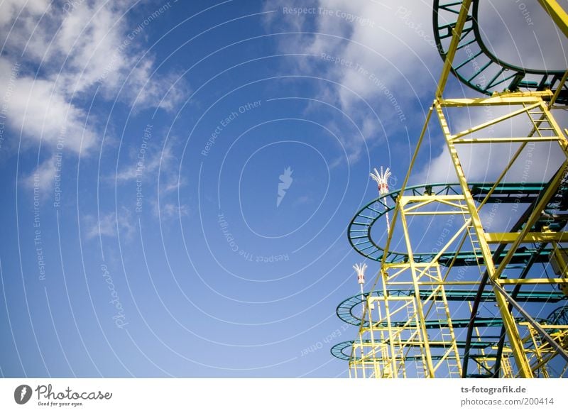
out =
[[[438,52],[446,59],[452,28],[455,27],[462,1],[434,0],[433,27]],[[464,84],[478,92],[541,91],[555,92],[564,70],[518,67],[499,59],[484,43],[478,21],[479,0],[471,1],[464,30],[452,64],[452,72]],[[568,104],[568,88],[564,84],[557,104]]]

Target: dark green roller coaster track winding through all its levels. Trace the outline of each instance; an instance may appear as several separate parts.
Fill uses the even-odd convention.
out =
[[[547,13],[550,14],[551,18],[555,23],[557,23],[560,31],[564,35],[568,35],[568,14],[562,10],[562,8],[556,3],[555,0],[538,0],[542,6],[545,7]],[[440,82],[438,85],[437,99],[438,102],[443,101],[442,91],[444,89],[445,79],[447,74],[452,72],[457,79],[459,79],[463,84],[466,84],[471,89],[481,92],[481,94],[486,94],[491,97],[500,96],[511,97],[514,101],[515,97],[520,99],[518,102],[525,106],[522,99],[525,96],[536,97],[536,99],[542,99],[543,101],[548,101],[548,109],[552,108],[554,105],[566,105],[568,104],[568,87],[566,80],[568,77],[567,70],[545,70],[545,69],[533,69],[527,67],[520,67],[518,65],[513,65],[504,60],[499,59],[493,54],[491,48],[489,48],[483,37],[483,33],[479,26],[479,0],[463,0],[463,1],[449,1],[449,0],[434,0],[433,5],[433,27],[435,42],[439,55],[444,60],[444,70],[442,70],[442,76],[440,77]],[[550,92],[546,92],[550,91]],[[514,94],[513,92],[526,92],[525,94]],[[532,93],[532,94],[531,94]],[[493,98],[492,98],[493,99]],[[491,100],[491,99],[489,99]],[[459,99],[456,99],[459,101]],[[435,102],[436,103],[436,102]],[[460,103],[453,103],[459,106]],[[498,104],[498,103],[497,103]],[[432,106],[434,108],[434,106]],[[433,109],[431,109],[433,110]],[[439,110],[439,109],[438,109]],[[531,121],[534,125],[532,132],[529,134],[528,138],[517,138],[518,142],[528,142],[530,138],[535,134],[535,139],[539,136],[543,138],[541,131],[545,128],[542,127],[542,122],[550,121],[550,118],[545,118],[546,109],[542,109],[542,112],[535,112],[536,114],[542,114],[540,119],[533,119]],[[529,116],[533,116],[531,112],[528,111]],[[440,119],[443,118],[443,115]],[[428,115],[426,123],[428,123],[430,115]],[[546,120],[548,119],[548,120]],[[552,120],[552,123],[555,121]],[[442,122],[443,123],[443,122]],[[551,126],[552,126],[551,123]],[[444,125],[442,124],[442,128]],[[551,128],[552,129],[552,128]],[[422,131],[424,133],[424,131]],[[454,138],[449,135],[448,132],[444,131],[446,138]],[[422,138],[420,138],[421,140]],[[513,142],[513,138],[510,142]],[[565,137],[559,136],[559,145],[564,153],[567,153],[566,148],[564,148]],[[484,141],[471,139],[472,143],[474,141]],[[485,139],[485,141],[491,141],[490,139]],[[506,140],[504,140],[506,141]],[[458,142],[459,143],[459,142]],[[419,143],[420,145],[420,143]],[[525,144],[523,144],[525,145]],[[524,146],[523,146],[524,147]],[[522,150],[522,148],[520,150]],[[567,153],[568,154],[568,153]],[[515,155],[516,156],[516,155]],[[568,155],[567,155],[568,156]],[[414,162],[414,161],[413,161]],[[455,160],[452,160],[455,165]],[[510,162],[514,162],[511,160]],[[458,168],[458,166],[457,166]],[[563,169],[564,168],[564,169]],[[458,175],[459,175],[459,171]],[[505,173],[505,172],[503,172]],[[410,174],[410,172],[409,172]],[[559,180],[563,174],[563,179]],[[408,177],[407,177],[408,179]],[[461,179],[461,177],[460,177]],[[501,178],[499,178],[501,180]],[[518,306],[518,302],[523,303],[558,303],[567,299],[567,291],[565,289],[554,290],[553,283],[548,282],[548,287],[552,287],[552,290],[542,290],[536,288],[534,285],[528,289],[523,289],[526,284],[528,277],[528,272],[535,263],[548,263],[551,256],[555,253],[557,254],[557,244],[558,241],[549,241],[548,238],[535,238],[540,239],[539,242],[523,242],[523,246],[519,248],[519,242],[524,240],[523,236],[520,234],[525,234],[527,232],[539,233],[545,229],[545,231],[552,233],[560,233],[564,231],[564,227],[568,221],[568,179],[566,175],[566,167],[562,166],[557,171],[555,177],[553,177],[550,182],[498,182],[496,184],[492,182],[476,182],[461,184],[458,183],[437,183],[437,184],[425,184],[425,185],[415,185],[413,187],[406,187],[406,181],[403,185],[405,189],[395,190],[389,192],[388,194],[383,194],[380,197],[374,199],[372,202],[366,204],[361,208],[354,216],[354,218],[349,223],[347,235],[349,238],[349,243],[359,254],[363,255],[368,260],[373,260],[383,265],[391,265],[392,268],[405,268],[409,261],[412,261],[412,265],[426,265],[425,268],[430,268],[430,264],[433,261],[448,268],[454,267],[465,267],[469,265],[476,265],[479,268],[485,266],[486,270],[484,274],[481,274],[481,278],[472,282],[472,288],[476,290],[457,290],[457,289],[447,289],[443,292],[444,300],[448,302],[452,301],[462,301],[469,302],[471,315],[469,318],[459,318],[459,319],[427,319],[427,317],[422,315],[421,323],[423,328],[427,330],[435,329],[465,329],[465,339],[455,340],[452,342],[455,348],[460,350],[460,358],[463,362],[463,369],[461,370],[461,377],[499,377],[502,368],[501,362],[503,360],[503,351],[506,344],[506,333],[510,334],[510,326],[506,331],[506,325],[504,322],[504,317],[506,313],[503,313],[503,299],[501,297],[500,311],[502,317],[488,317],[481,316],[479,314],[479,306],[482,302],[496,302],[496,296],[498,294],[506,294],[508,296],[508,307],[509,312],[511,306],[514,304]],[[466,194],[464,192],[469,192]],[[497,243],[497,246],[491,247],[489,250],[484,252],[483,258],[479,251],[476,250],[463,250],[461,246],[459,250],[444,250],[443,253],[434,253],[432,251],[413,251],[412,256],[409,253],[400,252],[396,250],[389,249],[389,243],[391,238],[388,238],[386,246],[381,246],[381,243],[376,239],[373,239],[373,235],[377,233],[383,234],[384,227],[375,226],[375,224],[382,218],[388,218],[387,214],[391,211],[394,214],[398,213],[398,199],[399,197],[415,197],[420,198],[424,196],[439,196],[440,199],[446,197],[446,199],[452,198],[452,196],[464,196],[465,199],[470,197],[474,203],[477,203],[479,208],[482,204],[500,203],[500,204],[523,204],[525,205],[525,212],[520,216],[518,221],[510,228],[508,234],[518,234],[519,241],[510,241]],[[453,199],[458,199],[454,197]],[[468,205],[471,208],[471,201],[468,201]],[[537,208],[537,206],[539,206]],[[535,217],[535,211],[540,211],[538,218]],[[530,222],[530,226],[528,226]],[[479,224],[476,224],[479,228]],[[373,231],[373,228],[376,228]],[[407,231],[405,229],[405,231]],[[477,230],[476,230],[477,231]],[[483,231],[482,229],[479,231]],[[405,232],[405,236],[408,236]],[[390,232],[390,237],[392,233]],[[562,239],[552,238],[552,239]],[[565,240],[564,240],[565,241]],[[488,245],[488,243],[486,244]],[[490,255],[489,255],[490,254]],[[487,261],[487,262],[486,262]],[[492,261],[492,262],[491,262]],[[496,282],[494,279],[490,279],[488,263],[491,262],[491,268],[493,265],[501,265],[500,268],[515,269],[520,271],[517,279],[513,284],[508,285],[507,288],[496,287],[491,284]],[[424,270],[426,271],[426,270]],[[493,270],[492,270],[493,271]],[[502,269],[500,270],[502,271]],[[503,282],[502,272],[498,272],[496,277],[499,278],[498,282]],[[550,281],[550,280],[549,280]],[[415,280],[416,282],[416,280]],[[559,281],[559,282],[562,282]],[[440,284],[443,281],[439,282]],[[546,283],[546,281],[545,281]],[[400,283],[399,283],[400,284]],[[498,294],[496,291],[501,290]],[[408,298],[417,299],[419,302],[421,300],[427,301],[428,299],[434,297],[432,294],[437,294],[432,292],[433,290],[413,290],[412,288],[407,289],[389,289],[388,297],[384,291],[374,290],[371,292],[361,292],[361,294],[354,295],[345,299],[337,307],[337,316],[342,321],[347,324],[352,324],[360,327],[359,339],[354,341],[344,341],[338,343],[331,349],[333,356],[340,358],[342,360],[349,360],[349,363],[370,363],[373,359],[375,353],[375,346],[377,341],[366,340],[363,338],[362,334],[366,330],[372,329],[417,329],[417,321],[414,319],[389,319],[389,324],[385,321],[372,323],[365,319],[365,309],[369,309],[371,302],[375,300],[384,303],[388,302],[388,299],[395,299],[396,297],[402,297],[401,300],[407,300]],[[365,305],[367,307],[365,307]],[[568,335],[566,335],[565,327],[568,326],[568,304],[564,304],[562,307],[554,309],[546,318],[532,319],[526,312],[523,312],[520,307],[517,307],[520,315],[524,318],[510,318],[508,315],[508,322],[513,324],[525,324],[528,328],[534,328],[540,331],[542,337],[545,337],[547,344],[542,346],[537,345],[536,342],[528,343],[527,348],[532,349],[532,354],[537,355],[539,351],[545,349],[550,353],[550,347],[547,349],[547,345],[557,348],[558,354],[561,354],[562,358],[568,360],[568,354],[564,349],[566,348],[566,341],[568,340]],[[528,321],[528,322],[527,322]],[[530,324],[530,325],[529,325]],[[531,327],[532,325],[532,327]],[[542,326],[541,326],[542,325]],[[560,328],[560,327],[562,328]],[[474,334],[477,329],[483,328],[484,331],[490,331],[490,333]],[[493,334],[496,329],[501,329],[500,334]],[[564,329],[564,330],[562,330]],[[564,338],[559,338],[562,341],[559,347],[559,343],[555,343],[554,339],[548,334],[564,334]],[[425,332],[423,333],[425,334]],[[453,333],[452,333],[453,334]],[[531,333],[532,334],[532,333]],[[463,338],[463,334],[461,337]],[[559,337],[559,336],[558,336]],[[534,336],[532,336],[534,340]],[[430,340],[430,339],[428,339]],[[378,343],[383,345],[385,343]],[[407,341],[406,346],[424,346],[425,343],[420,340]],[[448,346],[447,342],[444,341],[430,341],[428,343],[430,348],[446,348]],[[517,344],[518,345],[518,341]],[[356,356],[354,348],[358,347],[360,350],[362,348],[371,348],[372,351],[369,356]],[[491,348],[492,353],[486,353],[486,350]],[[346,351],[351,350],[348,355]],[[445,351],[445,350],[444,350]],[[513,353],[515,351],[518,353],[518,349],[513,348]],[[441,363],[444,358],[451,353],[451,350],[447,351],[445,355],[439,355],[437,353],[432,353],[429,355],[432,360],[437,360]],[[362,353],[361,353],[362,354]],[[543,360],[537,363],[536,369],[540,369],[539,366],[547,363],[547,360],[554,357],[554,352],[550,353],[552,356],[546,356]],[[540,356],[539,356],[540,357]],[[408,352],[403,356],[404,360],[409,361],[422,361],[424,363],[423,355],[417,355],[413,352]],[[471,360],[474,364],[481,366],[485,371],[482,373],[472,373],[468,370],[468,361]],[[485,361],[484,361],[485,360]],[[494,364],[492,366],[488,365],[487,360],[493,360]],[[520,359],[515,359],[519,362]],[[439,365],[439,363],[437,365]],[[484,364],[485,363],[485,364]],[[393,364],[394,366],[394,364]],[[523,365],[522,377],[528,377],[525,374],[528,373],[528,365]],[[433,372],[430,366],[430,374]],[[566,368],[564,368],[566,371]],[[520,373],[519,373],[520,374]]]

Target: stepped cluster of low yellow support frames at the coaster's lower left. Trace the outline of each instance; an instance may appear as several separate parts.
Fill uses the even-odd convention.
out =
[[[405,222],[404,216],[401,216],[400,222]],[[406,281],[398,281],[401,278]],[[351,377],[406,378],[410,377],[409,374],[424,378],[440,374],[459,377],[461,360],[439,265],[411,265],[410,262],[393,264],[392,268],[386,265],[379,280],[383,294],[366,300],[368,326],[361,326],[359,338],[354,343],[349,363]],[[427,297],[388,294],[398,289],[401,282],[412,285],[416,291],[420,288]],[[432,340],[424,328],[426,319],[444,325],[440,334]],[[401,324],[400,320],[405,322]],[[443,348],[437,353],[436,363],[431,357],[430,341],[437,348]],[[405,361],[408,357],[415,360],[410,363],[412,368]]]

